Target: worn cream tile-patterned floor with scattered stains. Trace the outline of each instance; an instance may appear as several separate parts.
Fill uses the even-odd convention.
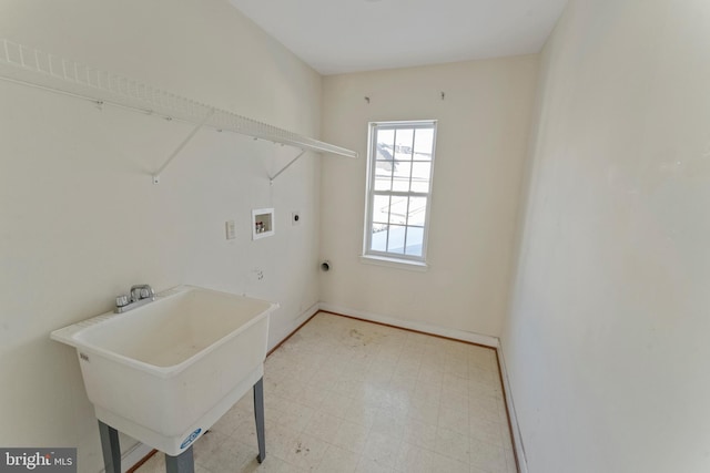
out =
[[[517,471],[491,349],[321,312],[266,359],[264,404],[263,464],[250,391],[195,443],[195,471]]]

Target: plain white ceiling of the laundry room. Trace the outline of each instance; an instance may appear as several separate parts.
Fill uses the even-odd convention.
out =
[[[230,0],[322,74],[539,52],[567,0]]]

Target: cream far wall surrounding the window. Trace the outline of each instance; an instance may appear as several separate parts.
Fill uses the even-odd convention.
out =
[[[323,164],[324,302],[499,336],[536,73],[529,55],[324,78],[323,136],[363,156]],[[438,120],[430,268],[362,264],[367,123],[425,119]]]

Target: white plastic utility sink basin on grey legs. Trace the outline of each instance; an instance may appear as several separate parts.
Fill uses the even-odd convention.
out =
[[[277,307],[183,286],[51,338],[77,348],[100,421],[175,456],[263,377]]]

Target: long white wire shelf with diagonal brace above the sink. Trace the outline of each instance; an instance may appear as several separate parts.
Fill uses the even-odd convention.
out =
[[[354,151],[278,128],[227,110],[183,97],[122,75],[65,60],[1,38],[0,80],[191,123],[197,126],[196,130],[210,127],[219,131],[231,131],[294,146],[303,151],[357,157],[357,153]],[[192,136],[194,136],[194,133],[196,131],[193,131]],[[192,138],[192,136],[189,136],[189,138]],[[186,140],[186,142],[189,141]],[[176,155],[182,147],[184,145],[173,154]],[[171,155],[159,171],[164,171],[173,157]],[[160,174],[160,172],[156,174]]]

